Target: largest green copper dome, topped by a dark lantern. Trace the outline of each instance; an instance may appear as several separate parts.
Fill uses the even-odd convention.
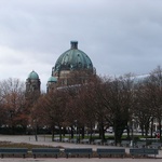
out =
[[[93,64],[90,57],[78,50],[78,42],[71,41],[71,49],[64,52],[56,60],[54,73],[62,70],[90,70],[93,72]]]

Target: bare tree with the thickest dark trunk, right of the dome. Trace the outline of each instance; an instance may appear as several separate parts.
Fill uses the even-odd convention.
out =
[[[134,90],[131,76],[108,80],[104,85],[103,106],[107,109],[106,119],[114,130],[116,144],[121,141],[123,130],[131,120]]]

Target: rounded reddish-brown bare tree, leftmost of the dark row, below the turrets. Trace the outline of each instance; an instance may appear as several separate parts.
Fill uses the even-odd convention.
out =
[[[62,127],[65,123],[66,97],[63,91],[50,92],[41,96],[32,109],[32,121],[38,125],[48,125],[52,129],[52,140],[54,140],[55,126],[59,129],[62,140]]]

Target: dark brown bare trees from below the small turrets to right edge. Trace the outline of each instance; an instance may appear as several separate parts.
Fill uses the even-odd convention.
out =
[[[161,75],[162,69],[157,67],[141,78],[132,75],[113,79],[92,77],[87,84],[67,86],[42,95],[35,105],[35,110],[43,110],[41,114],[45,116],[41,117],[41,121],[43,118],[49,119],[49,126],[71,127],[71,137],[76,120],[82,138],[85,127],[92,138],[93,127],[97,123],[99,137],[105,140],[106,127],[112,126],[118,144],[125,129],[130,137],[133,120],[140,126],[143,135],[145,132],[147,136],[150,130],[152,135],[154,121],[158,121],[161,129]]]

